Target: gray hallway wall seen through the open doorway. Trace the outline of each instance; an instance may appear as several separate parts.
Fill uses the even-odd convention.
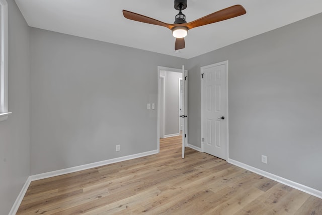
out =
[[[179,133],[179,78],[182,73],[166,71],[165,135]]]

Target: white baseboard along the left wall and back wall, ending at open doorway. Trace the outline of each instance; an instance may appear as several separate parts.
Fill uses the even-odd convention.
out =
[[[12,206],[12,208],[9,212],[9,215],[15,215],[17,213],[19,206],[21,204],[21,201],[24,198],[24,196],[27,192],[27,189],[32,181],[36,181],[36,180],[40,180],[40,179],[44,179],[44,178],[50,178],[50,177],[63,175],[63,174],[68,174],[68,173],[73,173],[73,172],[77,172],[77,171],[87,170],[87,169],[100,167],[100,166],[104,166],[104,165],[108,165],[108,164],[114,164],[117,162],[127,161],[127,160],[131,160],[131,159],[135,159],[135,158],[141,158],[141,157],[145,157],[145,156],[149,156],[149,155],[154,155],[157,153],[158,153],[157,150],[153,150],[153,151],[149,151],[149,152],[128,155],[128,156],[124,156],[124,157],[120,157],[120,158],[113,158],[113,159],[109,159],[109,160],[105,160],[105,161],[99,161],[99,162],[95,162],[95,163],[91,163],[91,164],[70,167],[70,168],[66,168],[66,169],[62,169],[62,170],[56,170],[56,171],[52,171],[52,172],[31,175],[28,177],[25,185],[21,189],[14,205]]]

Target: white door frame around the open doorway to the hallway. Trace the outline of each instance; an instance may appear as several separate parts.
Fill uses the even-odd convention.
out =
[[[160,128],[160,117],[161,117],[160,114],[161,114],[161,106],[160,106],[160,86],[159,85],[160,85],[160,71],[161,70],[173,71],[175,73],[182,73],[182,68],[171,68],[171,67],[165,67],[165,66],[157,66],[157,153],[160,152],[160,129],[161,129]],[[185,69],[185,73],[188,73],[188,70]],[[184,78],[183,73],[182,73],[182,77]],[[188,105],[184,104],[184,106],[185,106],[185,108],[188,108],[188,107],[186,107]],[[187,120],[187,125],[185,125],[185,126],[188,127],[188,120]],[[163,130],[164,130],[164,128],[163,128]],[[186,138],[185,146],[187,146],[187,143],[188,143],[188,130],[186,131],[186,133],[187,133],[187,138]]]

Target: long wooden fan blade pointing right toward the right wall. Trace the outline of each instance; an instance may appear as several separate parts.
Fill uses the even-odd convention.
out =
[[[211,23],[220,22],[223,20],[238,17],[238,16],[244,15],[244,14],[246,14],[245,8],[241,5],[235,5],[235,6],[231,6],[229,8],[222,9],[222,10],[217,11],[215,13],[209,14],[209,15],[202,17],[200,19],[197,19],[195,21],[189,22],[186,24],[186,26],[189,29],[192,29],[192,28],[196,28],[199,26],[208,25]]]

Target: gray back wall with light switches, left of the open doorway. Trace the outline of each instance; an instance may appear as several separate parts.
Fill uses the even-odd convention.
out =
[[[31,28],[31,174],[157,149],[157,66],[186,59]],[[115,152],[115,145],[121,151]]]

